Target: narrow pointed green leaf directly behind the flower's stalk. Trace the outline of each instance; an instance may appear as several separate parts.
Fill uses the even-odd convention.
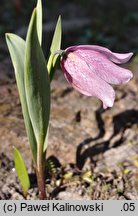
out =
[[[52,44],[50,47],[50,55],[49,55],[48,64],[47,64],[47,69],[48,69],[48,73],[50,76],[50,80],[52,80],[53,78],[55,65],[59,57],[59,54],[55,55],[55,51],[60,50],[61,48],[61,35],[62,35],[61,16],[59,16],[57,24],[56,24]]]

